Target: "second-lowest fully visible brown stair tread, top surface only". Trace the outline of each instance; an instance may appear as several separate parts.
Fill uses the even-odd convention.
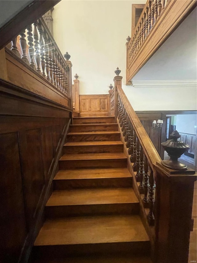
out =
[[[53,191],[46,206],[139,203],[133,189],[94,188]]]

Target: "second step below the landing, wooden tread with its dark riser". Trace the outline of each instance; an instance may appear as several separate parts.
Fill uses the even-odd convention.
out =
[[[120,141],[119,131],[70,132],[68,142]]]

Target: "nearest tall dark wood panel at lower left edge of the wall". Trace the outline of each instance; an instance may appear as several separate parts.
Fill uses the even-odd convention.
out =
[[[26,239],[18,133],[0,134],[0,261],[18,262]]]

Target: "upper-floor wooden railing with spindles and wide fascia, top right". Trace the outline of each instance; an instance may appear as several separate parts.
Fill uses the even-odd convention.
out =
[[[195,6],[196,0],[147,0],[127,38],[127,84]]]

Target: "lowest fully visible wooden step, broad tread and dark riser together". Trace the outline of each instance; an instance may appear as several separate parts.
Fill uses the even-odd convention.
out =
[[[38,256],[149,253],[150,241],[138,215],[47,219],[35,243]]]

